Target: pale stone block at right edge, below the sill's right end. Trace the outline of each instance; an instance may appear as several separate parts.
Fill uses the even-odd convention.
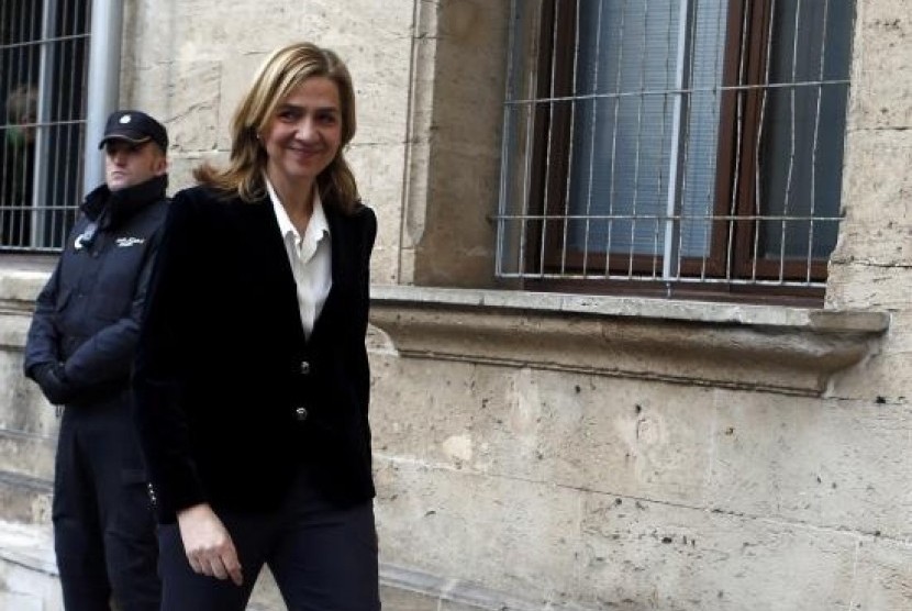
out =
[[[899,406],[719,390],[705,507],[822,529],[912,535],[912,435]],[[860,468],[864,466],[864,468]]]

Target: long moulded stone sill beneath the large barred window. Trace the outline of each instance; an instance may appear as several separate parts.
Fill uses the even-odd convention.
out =
[[[403,357],[821,396],[886,312],[412,286],[371,287]]]

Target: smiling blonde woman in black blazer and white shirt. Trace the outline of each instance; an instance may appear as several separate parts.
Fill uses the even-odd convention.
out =
[[[264,563],[289,609],[380,607],[354,133],[344,64],[287,46],[174,198],[134,373],[163,610],[242,610]]]

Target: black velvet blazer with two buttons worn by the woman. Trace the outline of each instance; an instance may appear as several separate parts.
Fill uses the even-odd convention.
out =
[[[307,465],[340,506],[374,497],[365,334],[374,212],[324,201],[332,289],[310,340],[268,198],[170,205],[134,367],[163,523],[199,502],[268,511]]]

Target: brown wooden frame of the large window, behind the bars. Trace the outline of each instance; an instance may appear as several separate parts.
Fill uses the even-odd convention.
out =
[[[809,253],[807,260],[765,259],[758,247],[763,219],[757,219],[764,214],[763,211],[752,213],[757,204],[754,155],[761,144],[761,105],[769,90],[765,81],[772,19],[769,0],[757,0],[747,5],[739,1],[730,2],[719,110],[715,218],[711,221],[708,255],[676,255],[675,279],[664,279],[660,278],[663,253],[643,255],[633,249],[622,254],[592,253],[568,247],[568,159],[572,146],[577,7],[578,0],[543,0],[538,14],[534,96],[545,102],[537,102],[535,110],[530,111],[534,135],[525,204],[527,220],[522,231],[525,243],[541,247],[522,251],[523,288],[819,304],[824,296],[828,255],[813,257]],[[749,160],[752,170],[736,173],[734,159],[738,158]],[[505,163],[504,168],[508,165]],[[729,213],[731,202],[734,202],[734,209]],[[605,270],[607,277],[587,278],[591,269]],[[625,274],[627,277],[623,277]],[[636,274],[652,277],[637,278]],[[694,278],[712,281],[703,284]],[[813,286],[779,284],[782,280],[805,280]]]

